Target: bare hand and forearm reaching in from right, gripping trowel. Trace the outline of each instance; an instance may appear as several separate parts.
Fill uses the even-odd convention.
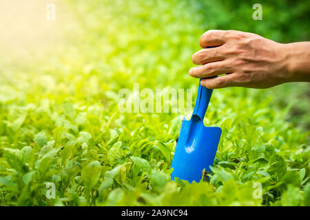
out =
[[[209,30],[200,37],[202,50],[192,56],[198,67],[189,75],[209,89],[265,89],[289,82],[310,82],[310,42],[277,43],[257,34]],[[207,48],[213,47],[213,48]]]

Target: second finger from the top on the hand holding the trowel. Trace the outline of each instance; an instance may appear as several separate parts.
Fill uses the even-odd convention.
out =
[[[215,61],[223,61],[225,57],[220,52],[221,47],[207,48],[196,52],[192,56],[192,61],[196,65],[211,63]]]

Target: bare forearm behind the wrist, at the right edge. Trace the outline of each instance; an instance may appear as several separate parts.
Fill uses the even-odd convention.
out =
[[[310,82],[310,42],[285,45],[288,82]]]

